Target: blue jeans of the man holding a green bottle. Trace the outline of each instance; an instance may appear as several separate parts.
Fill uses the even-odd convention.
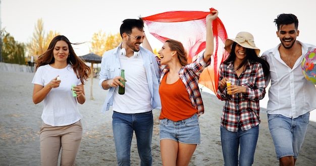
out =
[[[152,165],[152,111],[138,114],[122,114],[113,111],[112,119],[118,165],[130,165],[131,142],[134,131],[140,165]]]

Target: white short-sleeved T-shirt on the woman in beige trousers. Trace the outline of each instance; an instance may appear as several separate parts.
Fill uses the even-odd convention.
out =
[[[72,97],[71,85],[81,85],[76,73],[68,64],[63,69],[51,67],[49,64],[38,67],[32,84],[46,86],[51,79],[59,75],[61,84],[52,88],[44,99],[42,120],[50,126],[66,126],[76,123],[82,118],[77,106],[77,98]]]

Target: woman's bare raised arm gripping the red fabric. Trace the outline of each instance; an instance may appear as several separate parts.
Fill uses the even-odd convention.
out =
[[[206,16],[206,42],[205,42],[205,51],[204,51],[204,61],[207,62],[210,59],[210,56],[214,52],[214,34],[212,22],[217,19],[219,12],[212,11]]]

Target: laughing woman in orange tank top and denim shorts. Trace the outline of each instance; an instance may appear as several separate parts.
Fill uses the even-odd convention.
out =
[[[214,51],[212,22],[218,11],[206,16],[205,52],[190,64],[181,42],[167,40],[158,52],[161,68],[159,94],[162,102],[160,115],[160,145],[163,165],[188,165],[200,143],[198,116],[204,113],[198,88],[199,75],[210,64]],[[152,50],[144,39],[143,47]]]

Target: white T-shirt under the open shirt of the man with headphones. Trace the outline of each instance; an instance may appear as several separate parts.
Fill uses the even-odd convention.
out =
[[[116,88],[113,94],[113,111],[124,114],[136,114],[151,111],[151,96],[148,89],[143,57],[119,55],[121,68],[125,71],[125,94],[119,94]]]

